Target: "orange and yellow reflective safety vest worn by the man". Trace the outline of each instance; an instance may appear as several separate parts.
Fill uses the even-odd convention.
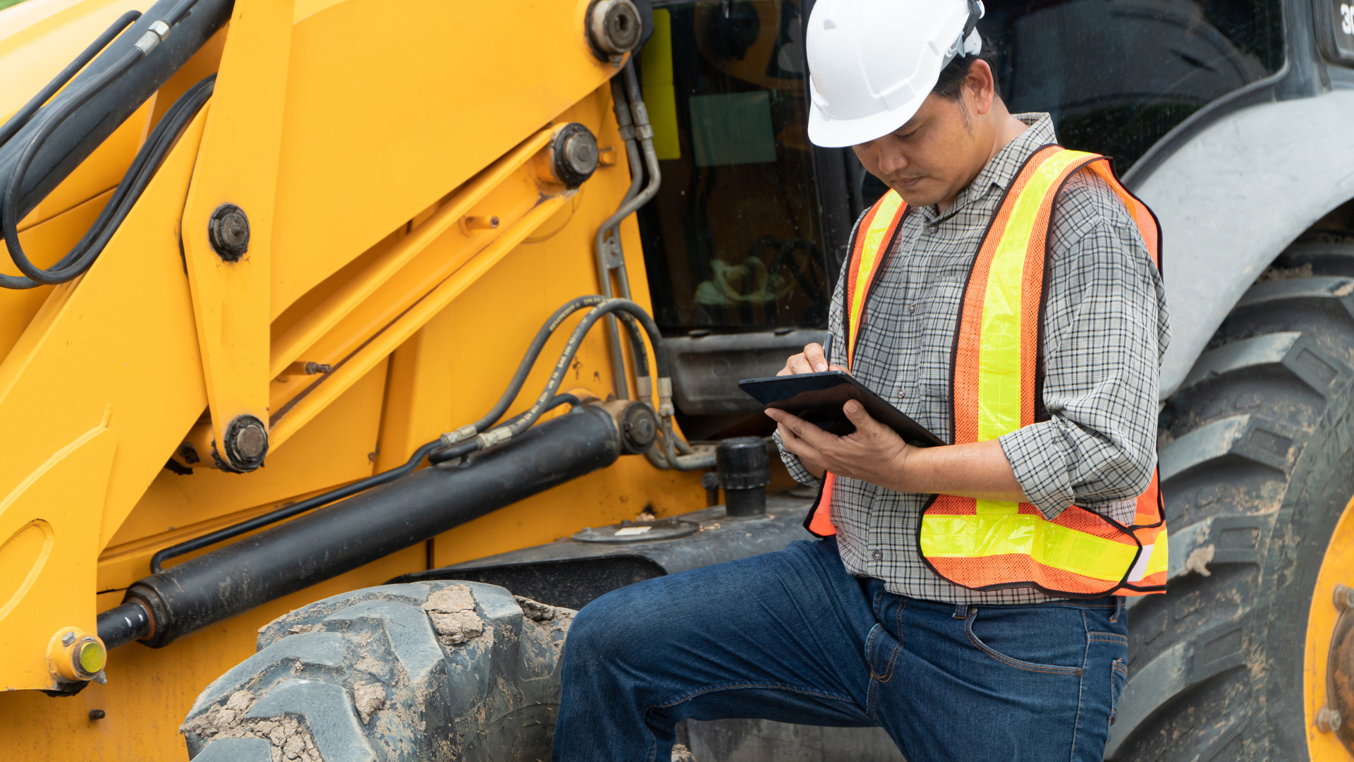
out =
[[[1041,312],[1048,287],[1048,228],[1053,199],[1079,169],[1095,172],[1118,194],[1160,270],[1160,230],[1152,212],[1128,193],[1109,160],[1048,145],[1006,190],[974,259],[952,351],[955,443],[995,439],[1047,419],[1039,404]],[[846,367],[868,312],[867,298],[907,205],[888,191],[865,214],[846,270]],[[835,534],[829,473],[804,526]],[[936,495],[922,511],[921,556],[942,579],[971,590],[1036,587],[1057,597],[1144,595],[1166,591],[1167,538],[1158,475],[1124,526],[1078,506],[1049,521],[1029,503]]]

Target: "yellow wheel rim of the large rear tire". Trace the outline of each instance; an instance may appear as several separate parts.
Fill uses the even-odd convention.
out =
[[[1307,750],[1313,761],[1346,761],[1354,755],[1340,740],[1340,735],[1354,738],[1354,712],[1346,710],[1342,717],[1340,731],[1323,729],[1326,717],[1323,709],[1339,709],[1339,704],[1347,701],[1332,701],[1330,685],[1331,667],[1331,639],[1342,614],[1354,618],[1354,610],[1342,610],[1335,605],[1335,590],[1339,586],[1354,587],[1354,499],[1340,514],[1335,532],[1331,534],[1326,556],[1322,559],[1322,569],[1316,575],[1316,586],[1312,588],[1312,607],[1307,617],[1307,643],[1303,658],[1304,683],[1304,720],[1307,721]],[[1346,622],[1346,628],[1350,622]],[[1345,639],[1345,643],[1349,643]],[[1345,671],[1350,668],[1349,647],[1342,652]],[[1346,689],[1347,690],[1347,689]],[[1322,721],[1319,721],[1322,720]]]

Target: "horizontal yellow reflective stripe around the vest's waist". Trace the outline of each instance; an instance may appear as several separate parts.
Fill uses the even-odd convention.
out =
[[[922,515],[921,548],[927,559],[1021,553],[1045,567],[1106,582],[1124,579],[1137,555],[1136,545],[1076,532],[1032,514]]]

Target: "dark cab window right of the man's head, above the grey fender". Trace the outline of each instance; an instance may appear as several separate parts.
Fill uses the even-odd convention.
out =
[[[1284,65],[1281,0],[987,0],[1014,113],[1048,111],[1067,148],[1128,171],[1175,125]],[[862,182],[865,203],[883,184]]]

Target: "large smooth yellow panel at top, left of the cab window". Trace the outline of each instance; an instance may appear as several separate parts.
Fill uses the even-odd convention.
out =
[[[391,23],[389,3],[347,0],[299,20],[272,315],[605,84],[586,7],[410,0],[398,15],[418,22]]]

